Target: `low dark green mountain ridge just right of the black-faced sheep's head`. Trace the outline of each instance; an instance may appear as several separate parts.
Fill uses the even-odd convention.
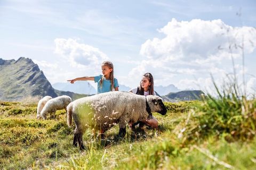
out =
[[[202,90],[185,90],[179,92],[170,92],[169,94],[162,96],[164,101],[185,101],[185,100],[198,100],[201,99],[201,95],[204,95]]]

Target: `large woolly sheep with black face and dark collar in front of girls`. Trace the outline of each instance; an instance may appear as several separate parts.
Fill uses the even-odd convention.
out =
[[[83,133],[86,128],[106,131],[119,124],[119,137],[124,137],[126,124],[147,119],[151,112],[166,114],[162,98],[149,95],[135,95],[125,91],[110,91],[84,97],[67,106],[67,123],[70,127],[72,117],[76,125],[73,145],[84,149]],[[151,111],[151,112],[150,112]]]

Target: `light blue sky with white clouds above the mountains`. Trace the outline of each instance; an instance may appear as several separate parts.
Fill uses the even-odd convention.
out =
[[[131,88],[150,72],[155,86],[211,91],[211,75],[221,86],[235,70],[253,92],[255,28],[253,0],[0,0],[0,58],[31,58],[52,84],[99,75],[106,60]]]

